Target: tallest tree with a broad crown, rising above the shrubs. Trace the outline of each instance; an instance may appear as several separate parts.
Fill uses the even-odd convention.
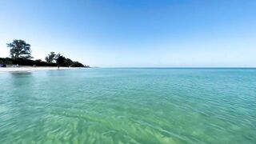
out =
[[[13,42],[7,43],[7,47],[10,47],[11,58],[33,58],[31,57],[30,44],[21,39],[15,39]]]

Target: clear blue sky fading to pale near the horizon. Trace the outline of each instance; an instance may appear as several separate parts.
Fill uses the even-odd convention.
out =
[[[102,67],[256,66],[255,0],[0,0],[0,57],[30,43]]]

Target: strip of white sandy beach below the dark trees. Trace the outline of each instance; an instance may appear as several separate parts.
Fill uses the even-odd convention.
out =
[[[0,67],[0,73],[4,72],[26,72],[26,71],[37,71],[37,70],[74,70],[78,67],[58,67],[57,66],[20,66],[20,67]]]

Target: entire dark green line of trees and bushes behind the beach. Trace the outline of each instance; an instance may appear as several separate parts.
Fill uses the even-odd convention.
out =
[[[30,44],[21,39],[15,39],[13,42],[7,43],[7,47],[10,47],[10,58],[0,58],[0,63],[25,66],[89,67],[83,65],[81,62],[74,62],[70,58],[66,58],[62,54],[55,54],[54,52],[50,52],[46,56],[46,62],[41,59],[32,60]]]

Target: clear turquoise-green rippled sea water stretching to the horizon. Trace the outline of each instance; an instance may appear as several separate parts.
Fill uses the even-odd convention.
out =
[[[0,143],[256,143],[256,69],[0,74]]]

